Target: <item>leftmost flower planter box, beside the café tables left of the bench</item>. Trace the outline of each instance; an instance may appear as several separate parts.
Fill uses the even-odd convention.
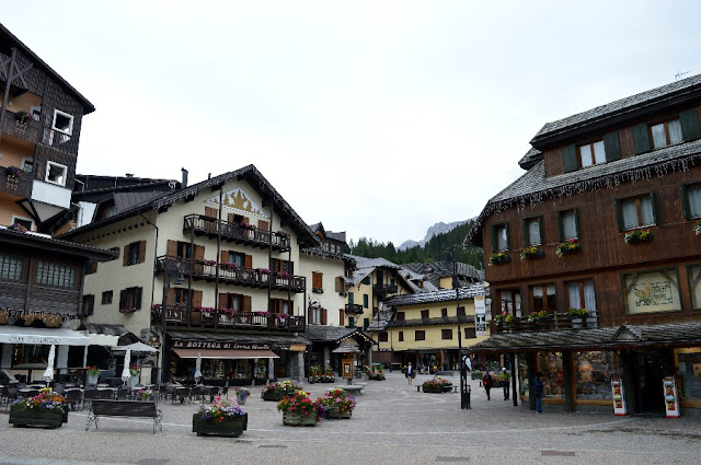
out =
[[[34,397],[16,399],[10,407],[10,423],[14,427],[60,428],[68,421],[66,397],[44,387]]]

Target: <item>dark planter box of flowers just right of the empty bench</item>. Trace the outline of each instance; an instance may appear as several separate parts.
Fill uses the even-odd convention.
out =
[[[249,426],[249,414],[240,405],[231,405],[221,396],[211,405],[203,405],[193,415],[193,432],[197,435],[214,434],[240,437]]]

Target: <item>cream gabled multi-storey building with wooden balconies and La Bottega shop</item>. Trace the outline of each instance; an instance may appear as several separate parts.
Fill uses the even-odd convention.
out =
[[[85,280],[89,323],[159,346],[163,380],[192,377],[198,354],[207,382],[302,375],[312,294],[301,263],[315,260],[302,251],[320,241],[255,166],[192,186],[184,177],[113,213],[65,234],[119,253]],[[329,261],[343,276],[344,260]]]

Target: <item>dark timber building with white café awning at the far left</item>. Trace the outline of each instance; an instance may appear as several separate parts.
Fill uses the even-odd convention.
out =
[[[0,24],[0,383],[84,367],[83,275],[112,252],[57,241],[70,206],[82,118],[93,105]],[[69,370],[71,369],[71,370]]]

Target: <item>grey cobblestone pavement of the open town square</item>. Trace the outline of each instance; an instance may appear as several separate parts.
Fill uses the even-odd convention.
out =
[[[85,411],[72,411],[57,430],[11,428],[0,415],[0,464],[701,464],[701,418],[542,415],[487,402],[476,381],[472,408],[456,393],[424,394],[401,373],[367,386],[349,420],[284,427],[275,403],[260,388],[245,404],[249,429],[237,439],[192,432],[196,405],[161,402],[163,431],[145,419],[104,417],[84,431]],[[415,384],[429,376],[420,375]],[[458,383],[458,380],[455,380]],[[343,382],[337,383],[338,385]],[[333,384],[304,384],[312,397]]]

